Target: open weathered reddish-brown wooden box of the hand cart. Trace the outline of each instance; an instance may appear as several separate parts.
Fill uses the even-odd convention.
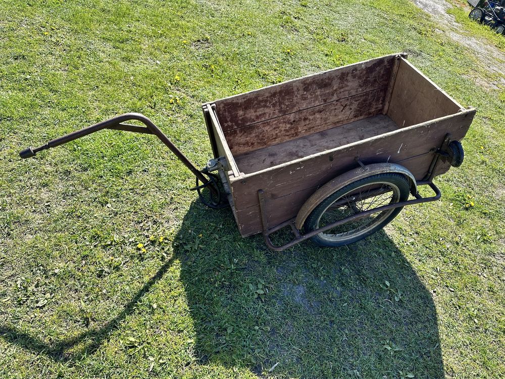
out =
[[[389,55],[217,100],[203,106],[240,234],[295,217],[316,190],[365,164],[399,163],[428,175],[447,133],[466,134],[464,109],[411,65]],[[446,172],[437,164],[435,174]],[[267,200],[262,224],[258,191]]]

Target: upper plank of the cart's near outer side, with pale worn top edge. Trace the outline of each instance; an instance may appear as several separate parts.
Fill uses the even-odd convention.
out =
[[[237,215],[239,211],[258,204],[259,189],[264,189],[270,196],[278,198],[324,184],[342,170],[354,167],[357,156],[365,163],[395,163],[438,148],[446,133],[451,133],[452,139],[460,140],[465,136],[474,115],[475,110],[469,109],[246,174],[240,180],[232,178],[231,188]]]

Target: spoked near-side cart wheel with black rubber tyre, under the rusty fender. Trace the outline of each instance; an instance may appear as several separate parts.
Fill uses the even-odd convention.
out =
[[[337,189],[307,217],[305,231],[310,232],[345,217],[384,205],[406,201],[410,182],[398,173],[372,175]],[[312,237],[319,246],[337,247],[363,240],[389,223],[399,212],[393,208],[348,221]]]

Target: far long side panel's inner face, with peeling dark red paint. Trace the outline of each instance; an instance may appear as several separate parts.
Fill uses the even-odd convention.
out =
[[[370,117],[377,114],[377,108],[378,113],[382,112],[395,60],[394,55],[377,58],[216,101],[232,153],[241,154]],[[357,97],[365,92],[371,93]],[[314,114],[327,122],[323,125],[314,121]],[[343,122],[345,119],[348,121]],[[251,141],[254,144],[248,148]]]

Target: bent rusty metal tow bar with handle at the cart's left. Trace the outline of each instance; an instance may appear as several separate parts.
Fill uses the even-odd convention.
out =
[[[140,121],[144,126],[138,126],[138,125],[131,125],[131,124],[126,124],[125,122],[127,121]],[[123,130],[123,131],[130,131],[133,133],[144,133],[144,134],[154,134],[160,140],[170,149],[172,153],[175,154],[177,158],[196,176],[197,181],[201,181],[201,184],[199,187],[203,188],[208,186],[210,191],[220,198],[220,189],[216,185],[216,182],[214,180],[209,180],[208,178],[205,177],[203,173],[201,173],[187,158],[186,156],[179,150],[177,147],[172,144],[172,141],[161,131],[158,126],[156,126],[153,121],[149,120],[147,117],[140,113],[125,113],[123,115],[119,115],[113,118],[110,118],[109,120],[105,120],[102,122],[99,122],[97,124],[85,127],[80,130],[76,130],[72,133],[63,135],[59,138],[55,138],[45,145],[42,145],[38,148],[33,148],[29,147],[24,150],[22,150],[19,153],[19,156],[23,159],[25,158],[30,158],[34,157],[38,152],[42,150],[47,150],[51,148],[56,148],[57,146],[66,144],[67,142],[73,141],[74,139],[84,137],[85,135],[97,132],[99,130],[103,129],[114,129],[114,130]],[[196,188],[194,188],[196,189]],[[198,195],[201,195],[198,191]],[[205,203],[205,202],[204,202]]]

